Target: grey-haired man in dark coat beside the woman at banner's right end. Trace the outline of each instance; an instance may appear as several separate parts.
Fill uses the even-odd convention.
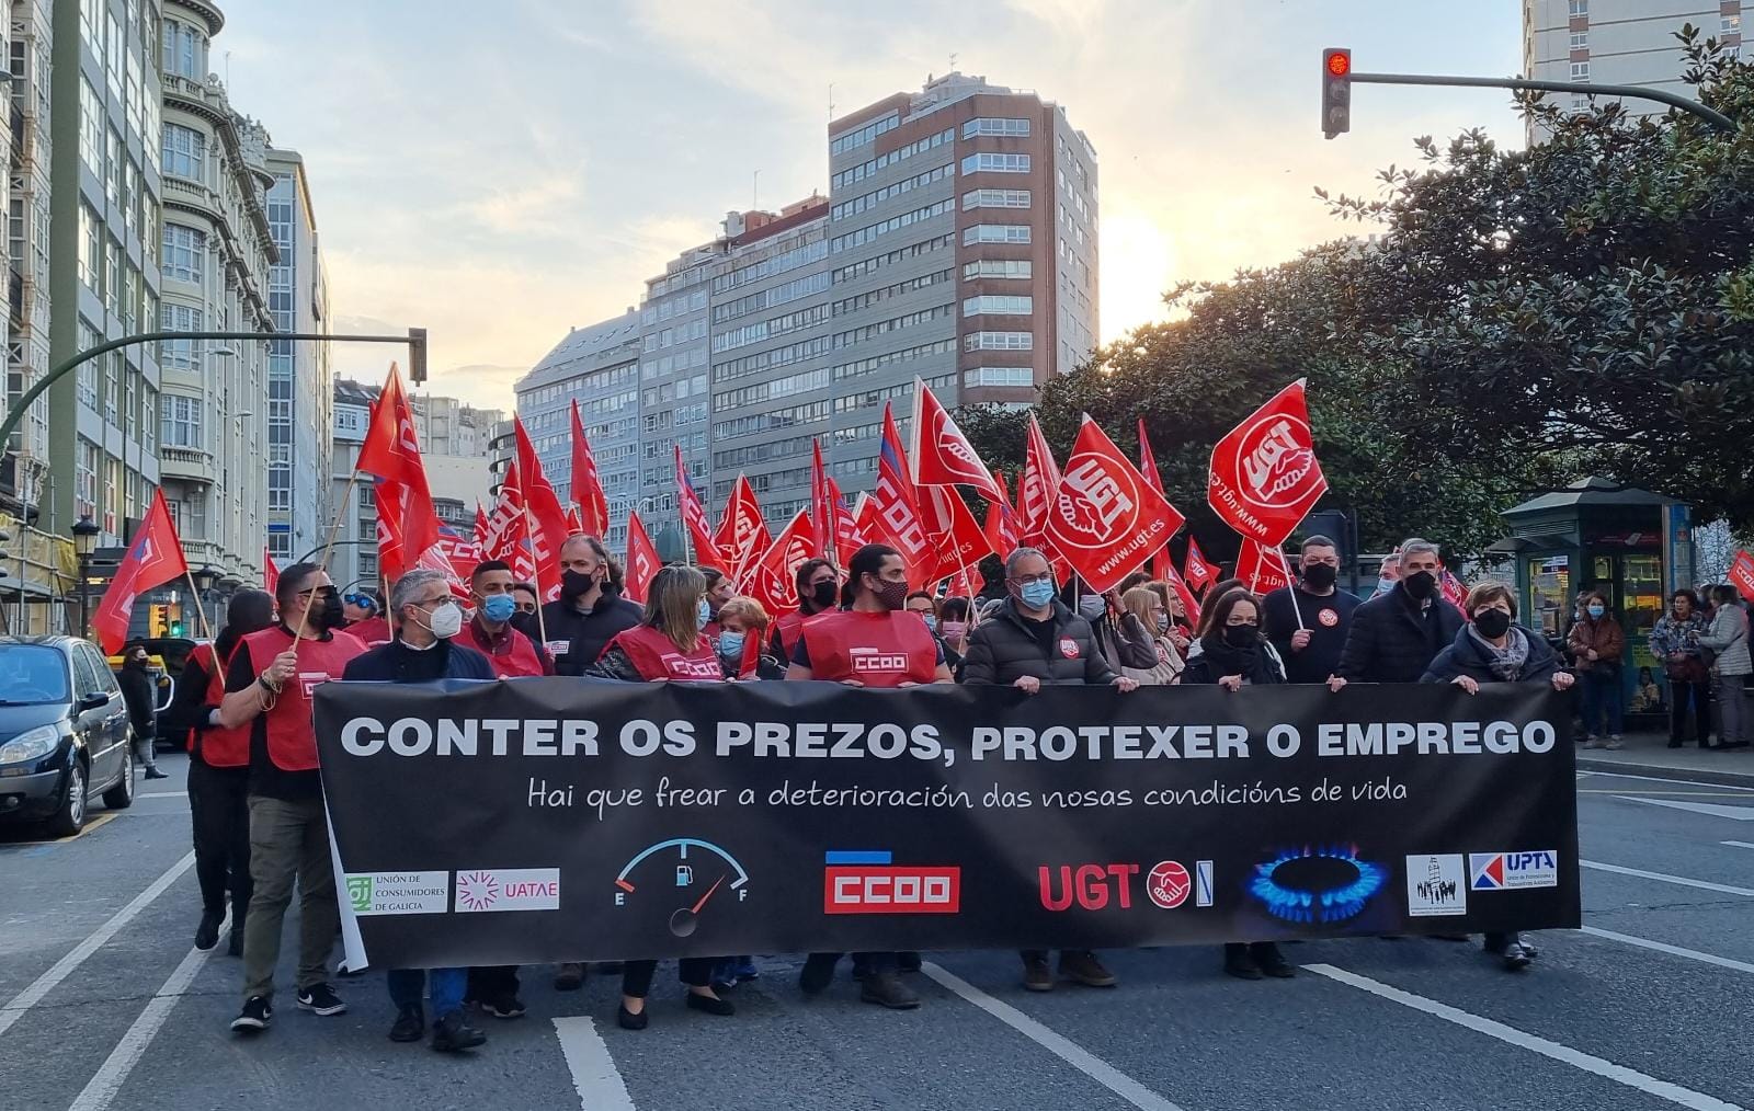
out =
[[[1417,536],[1401,543],[1400,580],[1352,610],[1340,666],[1328,689],[1351,683],[1417,683],[1437,654],[1461,633],[1463,619],[1444,601],[1437,545]]]

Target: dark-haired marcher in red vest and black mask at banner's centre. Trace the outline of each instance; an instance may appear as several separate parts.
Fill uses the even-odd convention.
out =
[[[949,683],[944,645],[926,622],[903,610],[907,561],[895,548],[868,543],[847,561],[847,608],[824,613],[800,629],[786,678],[821,678],[849,687],[919,687]],[[835,978],[840,953],[810,953],[798,987],[814,995]],[[919,995],[896,974],[898,953],[854,953],[854,976],[863,967],[859,999],[905,1011]]]

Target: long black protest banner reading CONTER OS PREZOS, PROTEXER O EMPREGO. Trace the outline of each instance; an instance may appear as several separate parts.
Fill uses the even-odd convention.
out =
[[[1577,927],[1540,685],[326,683],[379,966]]]

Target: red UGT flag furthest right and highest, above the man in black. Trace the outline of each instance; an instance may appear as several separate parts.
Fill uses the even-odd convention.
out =
[[[1277,548],[1328,491],[1303,380],[1254,410],[1212,449],[1207,501],[1224,524]]]

